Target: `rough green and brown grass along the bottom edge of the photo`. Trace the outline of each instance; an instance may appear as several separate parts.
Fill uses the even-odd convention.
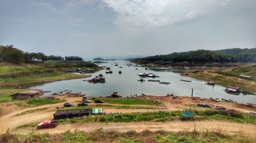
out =
[[[103,131],[97,129],[92,132],[84,131],[66,131],[59,134],[35,133],[28,134],[10,134],[5,133],[0,136],[0,142],[173,142],[173,143],[207,143],[207,142],[222,142],[222,143],[252,143],[255,142],[255,137],[245,136],[241,134],[228,135],[221,131],[148,131],[144,130],[141,133],[136,131],[117,132]]]

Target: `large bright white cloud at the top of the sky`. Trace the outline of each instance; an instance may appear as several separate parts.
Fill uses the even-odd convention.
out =
[[[116,25],[126,30],[156,28],[193,18],[212,10],[211,7],[227,5],[231,0],[104,0],[115,11]]]

